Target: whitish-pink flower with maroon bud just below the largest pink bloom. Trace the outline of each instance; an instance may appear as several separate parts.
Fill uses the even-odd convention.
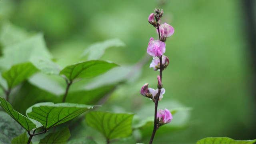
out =
[[[169,58],[167,56],[162,55],[162,66],[166,68],[169,65]],[[160,70],[160,58],[153,57],[152,62],[150,63],[149,68],[154,68],[154,71]]]

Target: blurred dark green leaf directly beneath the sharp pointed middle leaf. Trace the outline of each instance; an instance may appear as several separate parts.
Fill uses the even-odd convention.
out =
[[[96,104],[101,98],[103,98],[108,92],[114,90],[115,85],[102,86],[93,90],[81,90],[77,92],[69,92],[66,98],[66,102],[78,103],[78,104]],[[63,96],[62,96],[63,97]]]

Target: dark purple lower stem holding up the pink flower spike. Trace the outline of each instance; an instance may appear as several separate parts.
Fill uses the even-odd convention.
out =
[[[162,82],[162,72],[163,72],[163,70],[162,70],[162,56],[161,56],[160,57],[160,79],[161,79],[161,82]],[[160,93],[161,93],[161,89],[158,88],[158,94],[157,94],[156,101],[155,101],[154,128],[153,128],[153,132],[152,132],[152,135],[151,135],[151,138],[150,138],[150,141],[149,141],[150,144],[152,144],[154,136],[156,134],[156,130],[158,129],[157,128],[157,107],[158,107],[158,101],[159,101]]]

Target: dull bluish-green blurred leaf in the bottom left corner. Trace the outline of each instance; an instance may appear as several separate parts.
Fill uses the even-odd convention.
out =
[[[11,140],[24,132],[18,122],[4,111],[0,111],[0,143],[10,144]]]

